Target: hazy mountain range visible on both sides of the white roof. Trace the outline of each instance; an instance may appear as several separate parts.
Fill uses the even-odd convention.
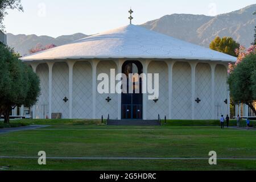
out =
[[[253,13],[255,11],[256,4],[217,16],[172,14],[151,20],[141,26],[204,47],[209,47],[210,42],[216,36],[230,36],[241,45],[249,47],[254,39],[256,16]],[[7,34],[7,44],[14,47],[20,55],[27,55],[28,50],[36,47],[37,44],[61,46],[87,36],[77,33],[52,38],[50,36]]]

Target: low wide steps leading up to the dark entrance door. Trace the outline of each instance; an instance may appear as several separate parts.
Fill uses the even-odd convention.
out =
[[[109,120],[109,126],[160,126],[158,120]]]

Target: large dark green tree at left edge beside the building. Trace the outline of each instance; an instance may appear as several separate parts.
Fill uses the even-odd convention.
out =
[[[32,106],[39,96],[39,78],[22,63],[13,49],[0,44],[0,115],[9,123],[10,111],[17,105]]]

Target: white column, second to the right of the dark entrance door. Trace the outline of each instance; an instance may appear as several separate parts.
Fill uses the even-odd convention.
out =
[[[169,119],[172,119],[172,75],[175,61],[166,61],[168,65]]]

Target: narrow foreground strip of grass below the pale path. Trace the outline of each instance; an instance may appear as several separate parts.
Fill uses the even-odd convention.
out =
[[[0,159],[1,166],[9,170],[72,170],[72,171],[239,171],[255,170],[255,160],[218,160],[210,166],[207,160],[47,160],[39,166],[37,159]]]

